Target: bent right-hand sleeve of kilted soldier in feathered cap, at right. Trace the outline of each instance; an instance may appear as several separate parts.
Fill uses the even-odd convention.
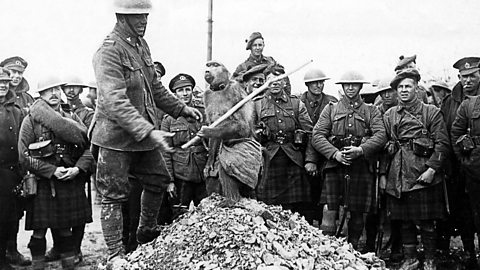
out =
[[[442,113],[437,108],[432,109],[434,109],[434,113],[431,118],[432,124],[430,130],[434,136],[433,139],[435,140],[435,152],[433,152],[432,156],[425,164],[435,171],[438,171],[447,158],[450,149],[450,141],[448,139],[447,127],[443,120]]]

